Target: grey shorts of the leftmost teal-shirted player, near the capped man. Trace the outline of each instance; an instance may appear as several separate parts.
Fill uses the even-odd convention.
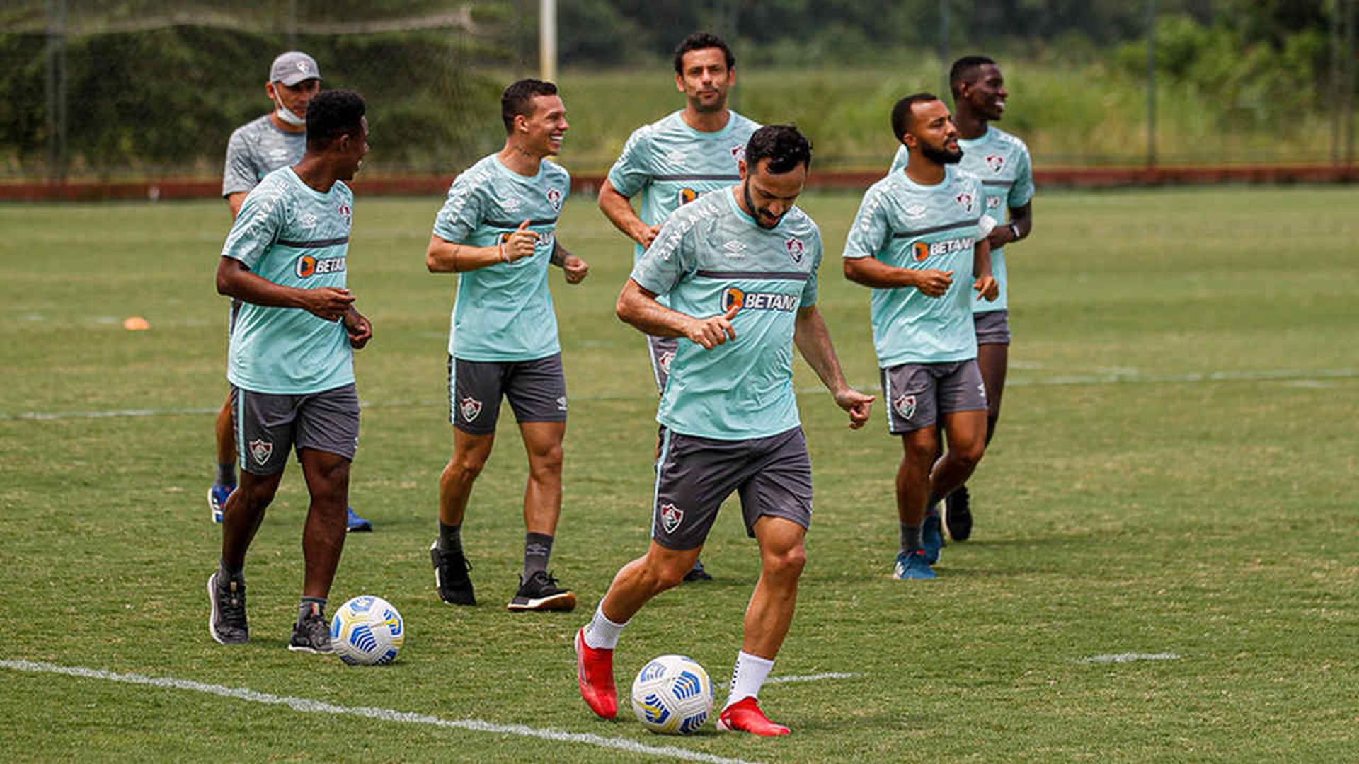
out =
[[[359,390],[351,382],[321,393],[281,396],[231,386],[231,424],[241,469],[277,474],[288,451],[314,449],[353,461],[359,446]]]

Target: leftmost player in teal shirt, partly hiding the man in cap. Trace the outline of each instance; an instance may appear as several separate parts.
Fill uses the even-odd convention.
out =
[[[241,485],[222,519],[222,561],[208,578],[208,631],[247,642],[245,563],[296,450],[311,504],[306,574],[288,650],[330,651],[326,597],[345,538],[349,462],[359,442],[353,351],[372,325],[345,288],[353,193],[344,184],[368,152],[363,98],[330,90],[307,109],[307,151],[265,175],[241,205],[217,265],[217,291],[242,300],[227,379]]]

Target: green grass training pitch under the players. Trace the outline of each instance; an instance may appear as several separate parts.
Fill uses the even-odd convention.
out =
[[[877,382],[867,292],[837,268],[852,196],[809,196],[828,242],[821,306],[851,382]],[[647,542],[655,396],[612,306],[629,247],[594,209],[560,235],[590,260],[553,276],[572,419],[553,568],[569,614],[503,609],[525,480],[512,424],[465,538],[482,605],[438,602],[427,548],[451,445],[444,341],[454,281],[425,273],[439,200],[360,198],[349,279],[375,338],[334,604],[405,616],[395,665],[284,648],[306,496],[295,465],[247,564],[251,633],[207,633],[219,529],[202,495],[223,379],[212,273],[220,203],[0,207],[0,749],[56,760],[746,761],[1352,760],[1359,750],[1359,189],[1053,193],[1010,253],[1011,379],[972,481],[973,541],[934,583],[889,578],[900,446],[877,406],[852,432],[799,362],[817,514],[798,617],[762,703],[781,740],[658,738],[579,700],[571,636]],[[121,322],[143,315],[149,332]],[[731,508],[728,506],[728,508]],[[754,576],[739,514],[624,633],[621,682],[686,653],[719,703]],[[1101,662],[1109,655],[1157,661]],[[250,689],[526,729],[439,727],[162,687],[18,670],[14,661]],[[1106,659],[1108,661],[1108,659]],[[29,665],[30,669],[35,667]],[[260,700],[260,697],[254,697]],[[310,710],[310,711],[308,711]],[[425,719],[428,722],[428,719]],[[597,738],[580,735],[598,735]],[[674,746],[669,753],[601,741]],[[625,745],[626,745],[625,744]]]

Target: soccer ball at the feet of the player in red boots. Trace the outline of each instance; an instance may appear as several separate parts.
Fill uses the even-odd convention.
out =
[[[654,733],[688,735],[699,731],[712,714],[708,672],[685,655],[652,659],[632,681],[632,712]]]

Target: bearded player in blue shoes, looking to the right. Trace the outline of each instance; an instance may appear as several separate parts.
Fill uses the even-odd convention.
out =
[[[892,110],[892,131],[909,159],[864,193],[845,241],[844,272],[872,287],[887,428],[901,435],[901,549],[893,574],[930,579],[942,537],[938,526],[923,533],[925,507],[968,480],[987,443],[972,292],[996,298],[985,238],[995,222],[981,179],[955,167],[958,129],[942,101],[924,92],[902,98]],[[940,426],[949,449],[936,461]]]

